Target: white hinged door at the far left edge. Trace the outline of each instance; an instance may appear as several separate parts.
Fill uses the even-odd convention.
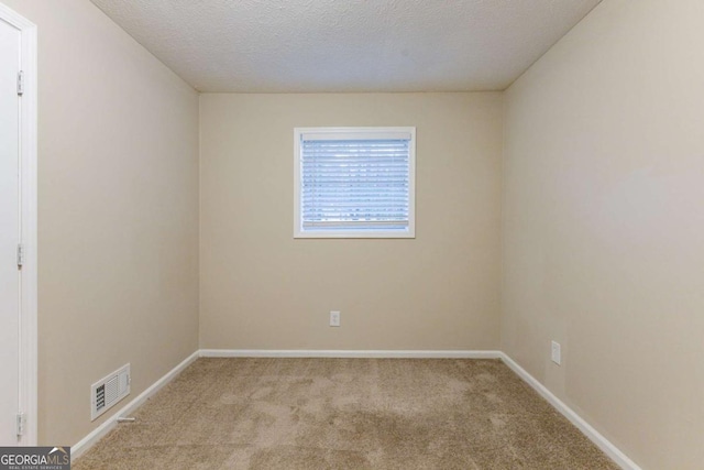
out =
[[[21,33],[0,20],[0,446],[19,442]]]

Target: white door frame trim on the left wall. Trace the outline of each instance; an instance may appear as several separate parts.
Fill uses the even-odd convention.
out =
[[[37,445],[37,41],[36,25],[0,3],[0,19],[21,34],[23,94],[20,99],[20,231],[23,263],[20,294],[21,446]]]

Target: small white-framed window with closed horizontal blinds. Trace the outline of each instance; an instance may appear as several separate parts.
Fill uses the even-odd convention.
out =
[[[414,238],[415,128],[297,128],[295,238]]]

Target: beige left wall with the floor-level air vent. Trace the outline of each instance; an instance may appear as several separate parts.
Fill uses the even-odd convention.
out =
[[[198,348],[198,95],[86,0],[2,2],[38,26],[40,442],[74,445],[92,382]]]

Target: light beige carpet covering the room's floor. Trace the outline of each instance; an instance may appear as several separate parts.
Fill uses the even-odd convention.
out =
[[[199,359],[87,469],[616,469],[499,360]]]

